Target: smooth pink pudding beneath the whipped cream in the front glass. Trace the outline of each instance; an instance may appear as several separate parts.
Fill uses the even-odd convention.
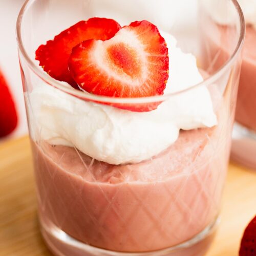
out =
[[[42,221],[115,251],[153,251],[193,238],[218,216],[229,157],[221,128],[181,131],[158,156],[125,165],[33,142]]]

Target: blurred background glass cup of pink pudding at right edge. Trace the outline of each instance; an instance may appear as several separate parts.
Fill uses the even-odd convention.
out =
[[[247,15],[247,14],[245,14]],[[256,28],[246,23],[236,122],[232,134],[232,160],[256,170]]]

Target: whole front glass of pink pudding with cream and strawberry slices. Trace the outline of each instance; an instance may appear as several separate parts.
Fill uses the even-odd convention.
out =
[[[169,0],[29,0],[21,10],[38,213],[54,254],[207,250],[245,28],[233,1],[233,24],[217,35],[229,35],[227,58],[208,69],[215,56],[205,55],[211,24],[201,6],[188,13]]]

